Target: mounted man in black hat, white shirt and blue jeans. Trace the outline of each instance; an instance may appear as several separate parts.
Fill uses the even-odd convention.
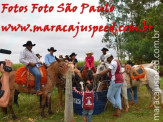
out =
[[[42,64],[36,54],[32,51],[33,46],[36,44],[32,44],[31,41],[27,41],[26,44],[23,45],[25,49],[20,53],[20,63],[26,65],[26,68],[35,76],[35,90],[38,96],[42,95],[40,91],[40,80],[41,74],[37,68],[37,64]]]

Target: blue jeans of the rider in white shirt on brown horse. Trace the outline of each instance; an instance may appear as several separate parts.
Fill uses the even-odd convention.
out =
[[[28,69],[28,66],[26,67]],[[30,66],[29,71],[35,76],[35,90],[40,90],[40,80],[41,80],[41,74],[40,71],[36,66],[32,67]]]

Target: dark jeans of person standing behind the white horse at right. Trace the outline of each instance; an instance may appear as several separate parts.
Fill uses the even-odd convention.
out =
[[[137,87],[132,87],[132,90],[134,92],[134,103],[137,104],[137,102],[138,102]],[[127,89],[127,95],[128,95],[129,101],[131,101],[132,100],[131,88]]]

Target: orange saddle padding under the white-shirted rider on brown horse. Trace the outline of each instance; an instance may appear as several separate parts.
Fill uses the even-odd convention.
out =
[[[38,68],[41,74],[41,82],[40,85],[45,85],[47,83],[47,75],[46,69],[44,66]],[[15,73],[15,82],[17,84],[21,84],[27,87],[34,87],[35,86],[35,76],[29,72],[26,67],[20,67],[17,69]]]

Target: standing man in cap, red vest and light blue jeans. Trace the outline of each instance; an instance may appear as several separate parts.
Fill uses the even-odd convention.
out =
[[[106,54],[105,61],[110,63],[108,69],[94,74],[94,77],[97,75],[103,75],[109,72],[109,76],[111,78],[110,86],[107,93],[108,100],[113,104],[113,107],[116,108],[116,112],[113,116],[120,117],[122,105],[121,105],[121,87],[123,85],[123,76],[121,73],[121,66],[118,60],[114,59],[112,54]]]

